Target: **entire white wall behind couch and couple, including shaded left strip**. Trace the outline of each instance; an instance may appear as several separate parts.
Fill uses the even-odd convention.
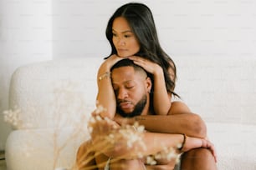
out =
[[[8,108],[14,69],[64,57],[105,57],[105,27],[117,0],[0,0],[0,111]],[[256,60],[253,0],[145,0],[155,16],[162,47],[175,62],[227,58]],[[189,59],[187,58],[187,59]],[[187,61],[187,60],[182,60]],[[189,61],[187,61],[189,62]],[[186,65],[186,64],[185,64]],[[218,69],[218,67],[217,67]],[[8,128],[0,119],[0,148]]]

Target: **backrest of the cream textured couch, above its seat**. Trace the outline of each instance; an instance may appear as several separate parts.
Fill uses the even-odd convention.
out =
[[[103,59],[39,62],[13,73],[10,105],[31,128],[68,126],[95,108],[96,74]],[[177,57],[176,92],[207,122],[256,124],[256,62]]]

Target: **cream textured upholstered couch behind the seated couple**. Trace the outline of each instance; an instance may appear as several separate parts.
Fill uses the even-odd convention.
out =
[[[210,58],[210,59],[209,59]],[[256,169],[256,62],[177,57],[177,92],[207,122],[218,150],[218,169]],[[19,67],[10,107],[20,108],[21,129],[6,144],[8,170],[72,168],[89,138],[100,57],[59,59]]]

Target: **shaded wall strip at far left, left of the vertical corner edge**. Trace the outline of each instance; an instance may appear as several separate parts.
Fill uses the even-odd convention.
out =
[[[8,109],[8,87],[14,70],[52,59],[51,1],[0,1],[0,112]],[[0,150],[10,132],[0,114]]]

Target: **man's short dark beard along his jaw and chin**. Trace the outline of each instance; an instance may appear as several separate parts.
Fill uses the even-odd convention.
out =
[[[147,97],[146,94],[141,97],[141,100],[136,104],[132,112],[126,113],[120,108],[120,102],[117,102],[116,111],[120,114],[121,117],[136,117],[141,115],[144,107],[146,106]]]

